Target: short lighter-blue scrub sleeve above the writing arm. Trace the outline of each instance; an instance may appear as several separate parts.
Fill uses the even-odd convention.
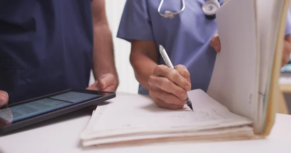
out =
[[[117,37],[130,40],[154,40],[146,0],[127,0]]]

